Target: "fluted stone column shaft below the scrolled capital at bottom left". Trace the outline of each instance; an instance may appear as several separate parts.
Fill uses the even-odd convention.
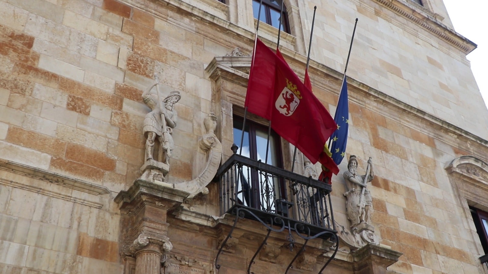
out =
[[[148,244],[135,253],[136,274],[160,274],[161,245]]]

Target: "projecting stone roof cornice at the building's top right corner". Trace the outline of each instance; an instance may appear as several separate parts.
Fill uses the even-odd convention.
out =
[[[403,18],[421,26],[431,34],[440,39],[447,41],[456,48],[463,51],[465,54],[473,51],[477,45],[469,39],[458,34],[454,30],[448,28],[446,25],[440,23],[435,19],[435,14],[431,14],[427,9],[422,7],[414,7],[413,4],[399,0],[374,0],[395,12]]]

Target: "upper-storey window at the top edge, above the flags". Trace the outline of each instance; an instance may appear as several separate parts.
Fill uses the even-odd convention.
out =
[[[261,17],[259,20],[266,24],[272,25],[275,28],[280,26],[280,0],[263,0],[263,6],[261,7]],[[286,14],[286,7],[283,7],[283,20],[281,29],[287,33],[290,33],[290,27],[288,24],[288,16]],[[258,19],[259,13],[259,0],[252,1],[252,11],[254,18]]]

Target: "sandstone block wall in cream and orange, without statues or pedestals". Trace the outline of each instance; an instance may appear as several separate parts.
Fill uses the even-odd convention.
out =
[[[120,213],[113,197],[140,176],[142,120],[149,111],[141,94],[155,73],[163,93],[182,92],[169,181],[198,173],[192,161],[211,111],[221,118],[217,132],[230,154],[229,117],[233,104],[242,106],[245,87],[212,81],[204,69],[232,48],[250,53],[254,20],[250,1],[228,2],[0,0],[0,272],[122,272]],[[487,109],[466,53],[380,2],[285,1],[292,33],[282,34],[283,52],[301,75],[312,8],[321,4],[310,72],[314,93],[333,113],[353,20],[359,17],[348,69],[347,150],[358,156],[360,167],[373,157],[376,178],[369,189],[376,233],[382,244],[404,253],[390,269],[480,273],[482,250],[467,201],[445,167],[463,155],[488,161],[488,127],[480,126],[487,123]],[[430,12],[446,17],[439,23],[450,26],[441,1],[427,2]],[[270,46],[276,34],[263,27]],[[5,161],[79,187],[12,170]],[[332,182],[334,215],[347,225],[342,176]],[[215,184],[209,189],[194,210],[215,215]],[[198,234],[198,225],[173,217],[168,222]],[[205,230],[192,243],[170,225],[174,253],[188,255],[198,244],[211,264],[218,240]],[[252,254],[246,252],[241,255]]]

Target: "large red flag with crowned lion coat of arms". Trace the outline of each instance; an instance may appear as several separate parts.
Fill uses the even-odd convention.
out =
[[[281,137],[316,163],[325,141],[337,128],[334,119],[285,60],[259,39],[254,54],[245,106],[249,112],[270,120]]]

